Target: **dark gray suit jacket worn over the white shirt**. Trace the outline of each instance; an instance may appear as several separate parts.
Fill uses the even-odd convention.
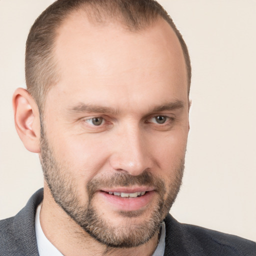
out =
[[[0,256],[38,256],[34,216],[36,207],[42,200],[42,192],[42,189],[35,192],[26,206],[14,217],[0,220]],[[181,224],[171,215],[164,221],[164,256],[256,256],[255,242],[194,225]]]

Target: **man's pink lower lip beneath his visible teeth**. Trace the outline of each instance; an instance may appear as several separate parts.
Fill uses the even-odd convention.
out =
[[[138,197],[121,197],[99,191],[99,194],[103,197],[104,201],[110,203],[115,210],[121,211],[142,209],[152,200],[154,193],[154,191],[148,191],[144,195]]]

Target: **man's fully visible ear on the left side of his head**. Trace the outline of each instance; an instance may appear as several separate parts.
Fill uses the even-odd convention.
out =
[[[17,88],[13,93],[12,106],[19,138],[27,150],[39,153],[40,118],[37,104],[27,90]]]

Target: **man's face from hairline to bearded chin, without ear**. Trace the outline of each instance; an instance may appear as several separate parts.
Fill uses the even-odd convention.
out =
[[[109,246],[158,231],[178,192],[188,133],[185,62],[169,25],[130,32],[80,14],[59,29],[40,159],[54,200]]]

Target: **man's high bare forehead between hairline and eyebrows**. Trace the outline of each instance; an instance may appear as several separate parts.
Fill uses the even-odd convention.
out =
[[[129,31],[113,22],[94,24],[83,13],[73,13],[59,28],[54,49],[60,79],[52,89],[69,99],[83,101],[90,95],[91,100],[110,100],[111,95],[114,102],[122,97],[128,103],[141,93],[161,97],[163,90],[173,98],[187,96],[183,52],[163,19]],[[97,97],[91,95],[95,91]]]

